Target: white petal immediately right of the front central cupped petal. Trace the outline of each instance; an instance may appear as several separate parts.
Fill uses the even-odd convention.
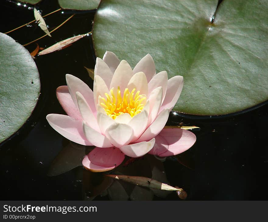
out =
[[[132,119],[129,121],[128,125],[131,126],[134,131],[134,137],[132,141],[138,139],[143,133],[143,131],[146,129],[148,116],[149,115],[146,109],[143,109],[139,114],[133,116]]]

